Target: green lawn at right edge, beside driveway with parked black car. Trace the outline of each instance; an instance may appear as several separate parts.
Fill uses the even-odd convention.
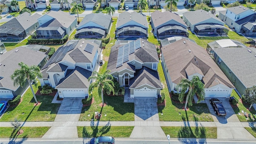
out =
[[[236,93],[235,90],[232,91],[231,96],[234,96],[234,97],[240,99],[240,97],[238,96],[238,94]],[[256,117],[254,115],[254,114],[256,114],[256,111],[254,110],[253,107],[249,110],[248,109],[249,107],[250,107],[249,104],[242,103],[241,100],[238,102],[237,106],[232,106],[232,108],[233,108],[234,112],[236,113],[236,116],[238,117],[240,122],[256,122]],[[242,113],[242,110],[244,112],[246,112],[247,114],[251,114],[251,117],[252,118],[254,117],[254,120],[252,118],[248,118],[248,120],[246,120],[246,117]],[[240,115],[238,113],[240,113]]]

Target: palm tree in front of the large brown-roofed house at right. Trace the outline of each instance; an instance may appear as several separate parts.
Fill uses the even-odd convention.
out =
[[[182,79],[180,83],[177,85],[177,88],[181,88],[181,92],[179,94],[180,102],[183,102],[186,91],[188,90],[188,95],[186,97],[185,110],[187,108],[187,104],[192,106],[193,97],[195,94],[198,96],[198,102],[204,100],[204,84],[201,82],[198,76],[193,76],[192,80],[188,80],[186,78]]]

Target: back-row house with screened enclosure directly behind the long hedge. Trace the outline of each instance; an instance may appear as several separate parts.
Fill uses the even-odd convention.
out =
[[[51,10],[38,18],[38,22],[40,27],[36,30],[36,37],[41,39],[64,38],[66,34],[70,35],[77,25],[76,17],[62,10]]]

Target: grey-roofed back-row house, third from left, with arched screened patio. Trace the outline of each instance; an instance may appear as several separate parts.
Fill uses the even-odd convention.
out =
[[[112,16],[102,12],[91,13],[76,27],[75,38],[105,38],[110,32]]]

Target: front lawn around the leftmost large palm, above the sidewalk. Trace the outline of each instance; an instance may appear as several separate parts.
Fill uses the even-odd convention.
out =
[[[34,92],[38,90],[33,85]],[[24,96],[22,102],[18,106],[9,107],[5,114],[0,119],[1,122],[11,122],[14,118],[20,121],[54,121],[59,110],[60,104],[52,104],[53,96],[36,96],[39,106],[34,106],[35,100],[31,89],[29,88]]]

